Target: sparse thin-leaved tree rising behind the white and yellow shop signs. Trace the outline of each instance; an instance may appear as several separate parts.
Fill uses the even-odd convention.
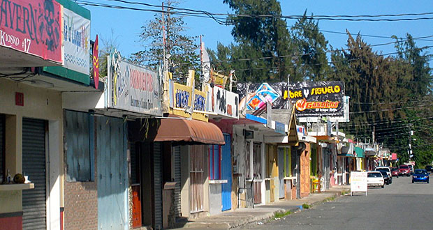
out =
[[[186,24],[182,17],[170,13],[179,4],[178,1],[163,1],[164,20],[161,13],[156,13],[154,20],[143,25],[140,33],[140,41],[143,49],[131,54],[131,60],[140,65],[156,68],[163,63],[163,23],[166,28],[166,56],[169,54],[170,62],[175,66],[175,74],[187,75],[189,69],[198,69],[200,56],[199,44],[196,42],[198,36],[186,35]]]

